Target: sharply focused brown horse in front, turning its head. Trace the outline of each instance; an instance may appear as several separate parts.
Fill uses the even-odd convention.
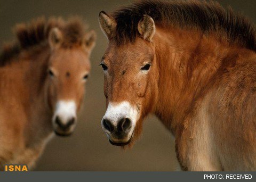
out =
[[[252,22],[204,1],[140,1],[99,22],[111,144],[131,146],[154,113],[183,170],[256,170]]]

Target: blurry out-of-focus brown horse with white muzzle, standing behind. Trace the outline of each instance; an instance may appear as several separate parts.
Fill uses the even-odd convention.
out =
[[[53,131],[73,133],[95,34],[78,18],[43,18],[15,29],[0,55],[0,169],[33,167]]]

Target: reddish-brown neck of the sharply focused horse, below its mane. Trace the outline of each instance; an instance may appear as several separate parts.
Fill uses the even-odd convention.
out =
[[[196,30],[163,30],[155,35],[158,65],[158,102],[155,114],[175,135],[221,65],[231,54],[227,43]]]

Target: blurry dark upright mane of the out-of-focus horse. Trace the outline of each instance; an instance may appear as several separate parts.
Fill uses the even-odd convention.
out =
[[[63,21],[61,18],[38,18],[30,23],[21,23],[15,26],[14,34],[17,37],[15,43],[4,45],[0,53],[0,67],[10,62],[12,57],[17,56],[22,50],[37,45],[48,43],[49,32],[52,28],[58,27],[62,32],[62,47],[71,47],[74,44],[81,44],[85,35],[86,27],[80,18],[71,18]]]

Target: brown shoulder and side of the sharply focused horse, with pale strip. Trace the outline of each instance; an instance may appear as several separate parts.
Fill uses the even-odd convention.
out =
[[[238,60],[196,101],[176,142],[183,169],[255,170],[255,61]]]

